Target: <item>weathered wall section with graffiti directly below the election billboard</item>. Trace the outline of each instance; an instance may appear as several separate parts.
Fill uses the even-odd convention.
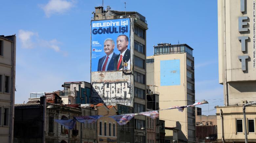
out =
[[[132,106],[131,76],[122,71],[92,72],[92,103]]]

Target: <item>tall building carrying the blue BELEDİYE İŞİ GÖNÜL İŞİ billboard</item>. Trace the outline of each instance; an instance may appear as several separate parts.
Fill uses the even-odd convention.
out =
[[[145,17],[96,7],[91,28],[91,103],[123,104],[133,107],[135,113],[146,111]],[[145,116],[135,117],[130,138],[136,143],[146,142],[145,121]]]

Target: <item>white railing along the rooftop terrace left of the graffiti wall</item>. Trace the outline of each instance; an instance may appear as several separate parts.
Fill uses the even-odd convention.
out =
[[[40,98],[41,96],[45,96],[46,93],[56,93],[60,97],[61,96],[76,96],[75,91],[70,91],[70,90],[62,90],[62,91],[53,91],[53,92],[35,92],[35,93],[30,93],[30,98]]]

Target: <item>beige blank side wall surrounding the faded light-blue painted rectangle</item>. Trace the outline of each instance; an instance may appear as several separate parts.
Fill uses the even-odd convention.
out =
[[[160,109],[169,108],[175,105],[183,106],[186,105],[187,97],[187,78],[186,78],[186,53],[177,53],[177,54],[166,54],[166,55],[157,55],[154,56],[155,62],[154,62],[154,84],[157,86],[155,88],[158,88],[158,92],[160,92],[159,95],[159,101],[160,101]],[[179,59],[179,68],[175,68],[172,73],[173,75],[177,75],[177,69],[179,69],[179,75],[176,77],[179,77],[180,79],[175,79],[173,83],[169,83],[170,85],[161,85],[161,76],[168,74],[168,71],[165,71],[165,75],[161,75],[161,61],[168,61],[168,60],[177,60]],[[152,65],[149,65],[149,69],[152,69]],[[162,65],[162,66],[173,66],[173,65]],[[170,70],[170,69],[169,69]],[[169,71],[170,72],[170,71]],[[176,72],[176,74],[175,74]],[[150,74],[151,71],[148,71]],[[171,77],[170,77],[171,78]],[[149,79],[149,78],[147,78]],[[151,81],[148,81],[149,83]],[[151,82],[153,83],[153,82]],[[163,82],[162,82],[163,84]],[[178,101],[177,101],[178,100]],[[168,102],[162,102],[162,101],[168,101]],[[171,115],[171,116],[170,116]],[[173,116],[175,115],[175,116]],[[187,124],[187,109],[185,108],[183,112],[179,112],[176,109],[173,110],[161,110],[160,111],[160,119],[165,120],[165,127],[175,127],[177,129],[180,129],[179,132],[179,139],[181,140],[187,140],[188,139],[188,124]],[[192,127],[193,128],[193,127]],[[195,129],[193,129],[195,130]]]

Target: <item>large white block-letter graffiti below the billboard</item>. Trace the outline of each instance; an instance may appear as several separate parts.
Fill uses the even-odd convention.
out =
[[[131,106],[131,83],[129,82],[93,82],[92,103],[107,105],[122,104]]]

